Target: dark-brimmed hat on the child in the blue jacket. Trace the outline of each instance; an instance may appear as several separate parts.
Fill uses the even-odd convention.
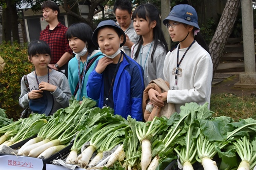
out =
[[[126,36],[125,36],[125,32],[121,29],[121,27],[116,23],[114,22],[113,20],[103,20],[98,26],[97,28],[94,30],[93,34],[92,34],[92,42],[95,46],[99,47],[99,44],[97,42],[97,35],[99,33],[99,30],[102,28],[102,27],[112,27],[115,29],[115,31],[119,32],[120,35],[123,35],[124,36],[124,41],[122,44],[120,44],[120,47],[122,47],[125,42],[126,42]]]

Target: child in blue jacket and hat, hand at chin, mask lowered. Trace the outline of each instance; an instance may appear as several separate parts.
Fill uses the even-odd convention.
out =
[[[104,20],[97,26],[92,42],[105,57],[89,75],[87,95],[99,99],[99,108],[110,107],[114,114],[142,121],[143,69],[120,50],[125,41],[124,31],[113,20]]]

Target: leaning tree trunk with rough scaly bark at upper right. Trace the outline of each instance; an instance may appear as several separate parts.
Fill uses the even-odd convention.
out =
[[[232,32],[235,19],[237,18],[241,0],[228,0],[223,10],[218,27],[209,44],[209,50],[213,63],[213,77],[219,66],[228,37]]]

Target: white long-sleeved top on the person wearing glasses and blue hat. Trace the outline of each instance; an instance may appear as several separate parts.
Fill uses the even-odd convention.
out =
[[[185,49],[180,49],[179,61]],[[171,86],[175,84],[175,69],[177,67],[178,48],[168,52],[164,61],[164,78]],[[210,54],[194,42],[183,58],[177,76],[178,90],[169,90],[167,102],[174,103],[176,112],[180,113],[181,105],[196,102],[203,105],[206,101],[210,106],[212,60]]]

